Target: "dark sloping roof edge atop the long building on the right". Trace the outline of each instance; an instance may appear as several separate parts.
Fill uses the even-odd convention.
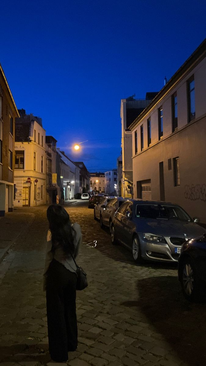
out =
[[[167,93],[176,86],[195,66],[197,66],[206,56],[206,38],[199,45],[199,47],[192,53],[192,55],[184,62],[184,64],[176,71],[176,73],[170,78],[165,86],[159,91],[157,96],[151,101],[151,103],[144,109],[143,112],[132,122],[129,126],[130,130],[135,128],[144,117],[146,117],[156,105],[162,101]]]

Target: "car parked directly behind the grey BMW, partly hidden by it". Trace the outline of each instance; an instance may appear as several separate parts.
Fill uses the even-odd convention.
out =
[[[107,226],[110,228],[110,233],[111,233],[111,224],[112,224],[114,214],[118,210],[118,208],[121,206],[121,204],[125,201],[126,201],[126,198],[116,197],[116,198],[110,199],[110,201],[107,203],[107,205],[103,205],[101,203],[100,217],[99,217],[101,228],[103,228],[104,226]]]

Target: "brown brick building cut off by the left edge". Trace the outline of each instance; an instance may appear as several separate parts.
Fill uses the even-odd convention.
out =
[[[16,117],[18,109],[0,64],[0,216],[13,211]]]

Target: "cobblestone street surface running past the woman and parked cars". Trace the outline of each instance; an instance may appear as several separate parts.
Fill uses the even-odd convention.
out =
[[[127,249],[111,245],[109,232],[100,229],[87,206],[81,201],[65,206],[71,221],[81,225],[77,262],[89,283],[77,292],[78,351],[69,353],[67,365],[205,366],[206,306],[184,300],[177,265],[137,266]],[[42,285],[46,209],[7,214],[13,226],[19,213],[28,212],[30,221],[21,221],[21,235],[0,263],[1,366],[58,365],[48,352]],[[93,240],[96,247],[87,246]]]

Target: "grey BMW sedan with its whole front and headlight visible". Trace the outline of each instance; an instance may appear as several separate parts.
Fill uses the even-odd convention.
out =
[[[123,243],[133,259],[177,262],[181,245],[205,230],[178,205],[129,199],[114,215],[111,242]]]

